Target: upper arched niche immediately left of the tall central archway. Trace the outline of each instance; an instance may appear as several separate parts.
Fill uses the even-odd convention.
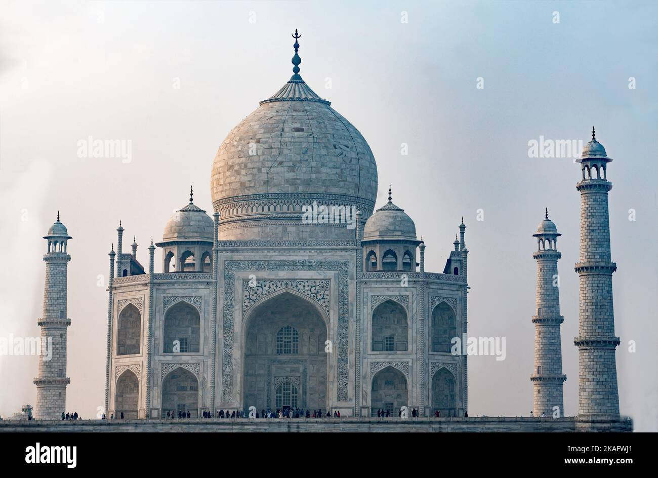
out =
[[[199,352],[201,318],[188,302],[172,305],[164,315],[164,352]]]

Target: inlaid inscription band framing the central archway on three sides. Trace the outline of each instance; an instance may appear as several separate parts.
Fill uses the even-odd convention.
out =
[[[222,402],[233,402],[234,300],[236,271],[338,271],[337,398],[348,400],[349,382],[349,261],[226,261],[224,263],[224,325],[222,334]]]

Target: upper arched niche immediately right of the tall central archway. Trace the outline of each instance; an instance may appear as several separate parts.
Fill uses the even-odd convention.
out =
[[[387,300],[372,311],[372,352],[404,352],[408,337],[407,311],[402,305]]]

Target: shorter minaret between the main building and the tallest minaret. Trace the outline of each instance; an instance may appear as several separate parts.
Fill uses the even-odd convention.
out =
[[[557,238],[561,236],[553,221],[548,219],[548,209],[544,221],[539,223],[537,232],[537,252],[532,257],[537,261],[537,306],[536,315],[532,316],[535,325],[535,359],[534,371],[530,381],[534,385],[534,416],[543,413],[547,417],[564,415],[562,384],[567,375],[562,373],[562,344],[560,324],[565,321],[560,315],[559,276],[557,259],[562,254],[557,252]]]

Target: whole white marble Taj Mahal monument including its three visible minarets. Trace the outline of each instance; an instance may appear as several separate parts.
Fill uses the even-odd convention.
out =
[[[118,226],[108,261],[105,412],[150,423],[180,410],[201,417],[302,408],[367,421],[380,410],[397,419],[407,408],[409,417],[417,410],[428,423],[476,430],[468,418],[468,354],[452,349],[453,338],[469,333],[467,226],[455,221],[455,237],[433,249],[445,251],[445,267],[426,271],[426,246],[395,199],[395,185],[386,184],[388,201],[376,204],[374,155],[359,130],[302,79],[296,31],[293,38],[290,80],[216,151],[212,204],[195,203],[193,190],[184,199],[181,190],[185,202],[171,203],[180,209],[144,252],[124,230],[130,225]],[[496,430],[632,428],[620,419],[617,390],[611,161],[593,131],[574,172],[580,362],[579,377],[569,378],[579,384],[578,415],[561,415],[567,377],[553,285],[560,234],[538,205],[539,225],[527,238],[537,245],[536,309],[522,319],[536,331],[523,385],[534,388],[538,419],[492,418],[488,426]],[[55,349],[34,379],[36,423],[59,420],[66,410],[71,239],[58,215],[45,236],[39,318],[42,338],[52,338]]]

